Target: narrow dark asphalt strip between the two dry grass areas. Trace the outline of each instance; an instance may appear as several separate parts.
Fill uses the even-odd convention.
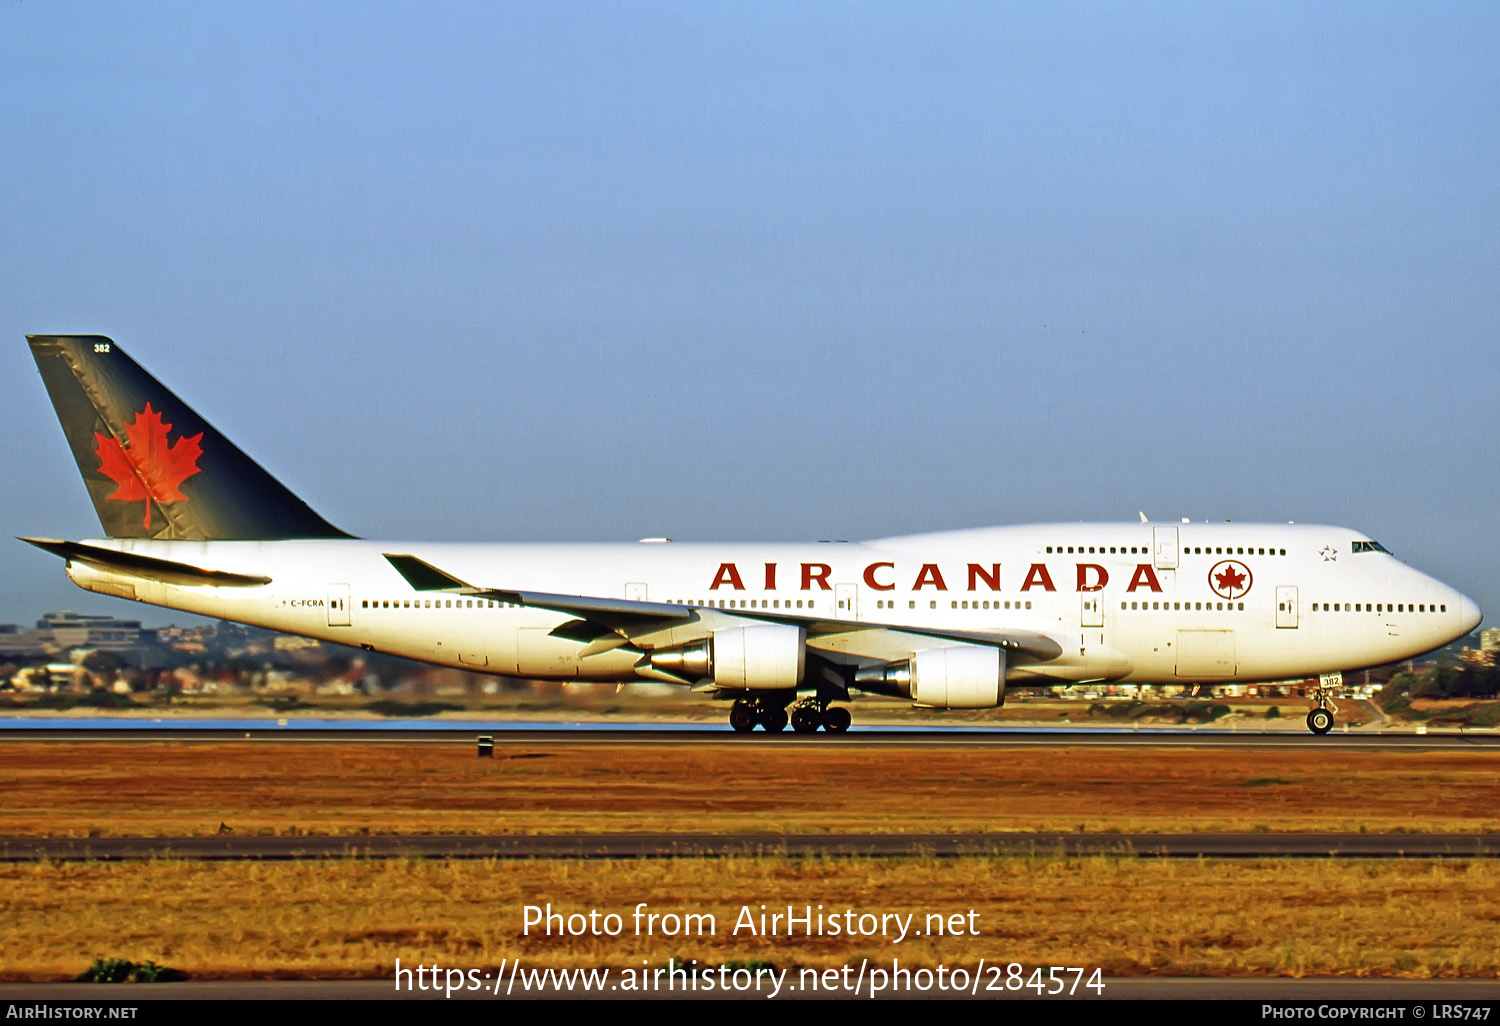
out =
[[[506,834],[6,837],[0,862],[328,858],[728,858],[1113,855],[1122,858],[1496,858],[1494,834]]]

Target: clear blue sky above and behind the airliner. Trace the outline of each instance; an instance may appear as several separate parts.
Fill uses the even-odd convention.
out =
[[[1500,609],[1494,4],[0,4],[26,351],[369,537],[1334,522]],[[0,622],[87,596],[0,544]]]

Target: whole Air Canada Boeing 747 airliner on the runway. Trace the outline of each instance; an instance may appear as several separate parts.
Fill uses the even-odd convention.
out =
[[[28,336],[108,537],[26,538],[81,588],[442,666],[670,681],[735,730],[849,728],[850,688],[1318,678],[1472,632],[1456,590],[1340,526],[1038,524],[860,543],[369,542],[98,334]]]

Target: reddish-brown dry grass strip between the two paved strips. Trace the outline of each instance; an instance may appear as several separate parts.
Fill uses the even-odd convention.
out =
[[[1494,831],[1500,752],[10,742],[0,834]]]

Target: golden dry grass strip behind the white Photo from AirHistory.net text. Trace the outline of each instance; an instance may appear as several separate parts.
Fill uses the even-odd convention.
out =
[[[620,938],[522,936],[520,908],[618,912]],[[630,910],[711,912],[706,938],[633,936]],[[978,912],[980,936],[732,936],[742,904]],[[1494,976],[1494,862],[1112,858],[129,862],[0,867],[0,975],[96,957],[194,976],[390,976],[404,966],[1100,966],[1106,975]]]

